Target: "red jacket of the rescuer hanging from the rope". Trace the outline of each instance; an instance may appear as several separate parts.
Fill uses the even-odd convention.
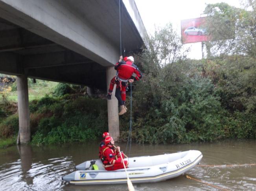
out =
[[[138,67],[133,64],[131,61],[126,61],[126,62],[117,62],[115,65],[115,69],[118,72],[118,77],[123,80],[128,80],[128,79],[134,79],[134,80],[139,80],[142,78],[142,73],[138,69]],[[133,77],[133,73],[136,74],[136,77]]]

